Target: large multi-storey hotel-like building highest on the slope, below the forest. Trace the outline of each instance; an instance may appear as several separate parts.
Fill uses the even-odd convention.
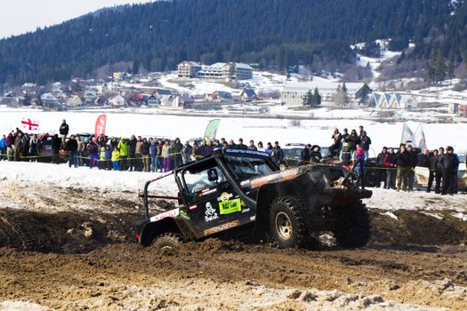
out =
[[[247,80],[253,78],[253,68],[244,63],[216,62],[212,65],[199,65],[184,60],[177,66],[178,76],[185,78]]]

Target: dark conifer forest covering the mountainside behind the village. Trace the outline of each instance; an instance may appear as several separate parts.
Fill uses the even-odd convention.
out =
[[[450,0],[172,0],[107,9],[0,40],[0,84],[44,84],[133,64],[173,70],[181,60],[262,68],[351,63],[350,44],[391,38],[410,57],[467,60],[467,4]],[[455,13],[452,12],[455,10]],[[367,52],[374,52],[368,46]]]

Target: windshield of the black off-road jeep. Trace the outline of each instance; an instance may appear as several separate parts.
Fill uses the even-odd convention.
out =
[[[270,163],[262,157],[227,156],[227,162],[240,181],[274,171]]]

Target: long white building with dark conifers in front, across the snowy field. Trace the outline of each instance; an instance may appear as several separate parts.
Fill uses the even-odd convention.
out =
[[[288,83],[280,94],[282,102],[289,106],[303,105],[303,97],[307,92],[314,92],[318,89],[321,96],[321,106],[338,106],[336,100],[338,91],[343,88],[342,83],[336,82],[294,82]],[[346,83],[347,100],[346,103],[350,106],[357,105],[359,98],[365,93],[371,92],[368,85],[363,83]]]

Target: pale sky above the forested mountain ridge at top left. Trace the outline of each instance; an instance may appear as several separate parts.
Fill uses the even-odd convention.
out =
[[[0,38],[59,24],[62,21],[119,4],[150,0],[0,0]]]

